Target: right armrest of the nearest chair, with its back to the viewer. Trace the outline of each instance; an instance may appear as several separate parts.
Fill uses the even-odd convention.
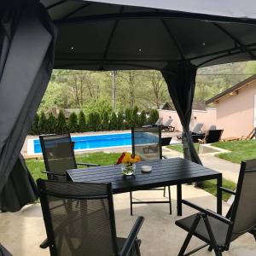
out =
[[[131,247],[133,246],[134,242],[137,240],[137,234],[142,227],[144,218],[138,217],[135,224],[133,225],[129,236],[127,237],[124,246],[120,252],[120,256],[127,256],[128,253],[131,252]]]

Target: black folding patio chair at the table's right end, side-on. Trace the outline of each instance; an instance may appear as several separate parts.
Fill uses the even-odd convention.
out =
[[[176,221],[177,226],[189,232],[178,255],[190,255],[209,246],[209,250],[213,249],[219,256],[229,250],[231,241],[247,232],[253,234],[256,241],[255,183],[256,160],[242,161],[236,192],[222,188],[223,191],[235,195],[235,201],[225,217],[183,200],[184,204],[200,212]],[[192,236],[198,237],[206,244],[185,254]]]

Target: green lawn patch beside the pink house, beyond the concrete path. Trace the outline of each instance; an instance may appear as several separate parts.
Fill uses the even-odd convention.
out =
[[[216,156],[224,160],[229,160],[232,163],[240,164],[241,160],[256,158],[256,140],[219,142],[212,143],[212,146],[230,150],[230,153],[221,153]]]

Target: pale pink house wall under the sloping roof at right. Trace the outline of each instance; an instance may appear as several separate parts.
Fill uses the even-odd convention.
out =
[[[238,90],[238,94],[218,100],[217,125],[224,129],[222,137],[247,136],[253,130],[256,80]]]

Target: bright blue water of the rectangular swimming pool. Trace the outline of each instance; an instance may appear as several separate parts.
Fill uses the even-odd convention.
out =
[[[158,137],[148,132],[136,136],[136,143],[139,144],[154,143],[156,140]],[[131,132],[72,137],[72,141],[75,143],[74,150],[131,146]],[[42,153],[39,140],[33,143],[34,153]]]

